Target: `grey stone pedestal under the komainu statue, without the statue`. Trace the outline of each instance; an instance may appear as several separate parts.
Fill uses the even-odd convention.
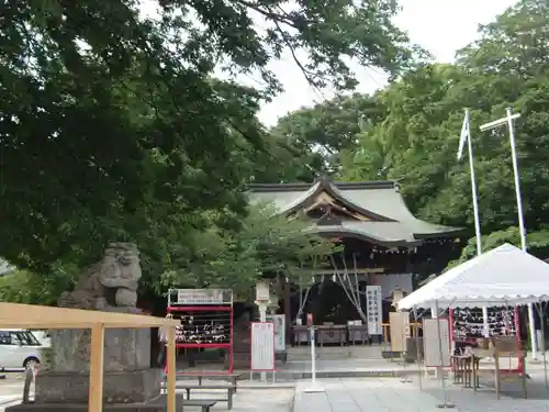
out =
[[[35,404],[87,404],[89,330],[52,333],[46,370],[36,376]],[[163,370],[150,368],[150,330],[107,330],[103,364],[104,404],[144,403],[160,393]]]

